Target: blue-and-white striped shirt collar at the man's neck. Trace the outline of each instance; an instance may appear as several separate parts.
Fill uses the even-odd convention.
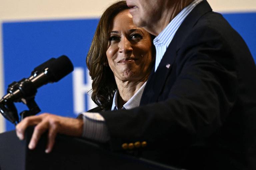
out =
[[[164,45],[167,48],[184,19],[194,9],[194,7],[202,1],[203,0],[194,0],[176,17],[174,17],[174,19],[164,28],[164,30],[153,40],[154,45]]]

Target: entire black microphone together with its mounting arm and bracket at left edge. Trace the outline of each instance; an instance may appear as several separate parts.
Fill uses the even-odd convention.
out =
[[[19,116],[14,102],[22,102],[27,105],[29,110],[20,113],[21,120],[27,116],[36,115],[41,111],[35,102],[37,88],[59,81],[73,69],[73,64],[65,55],[57,59],[51,58],[37,66],[29,78],[23,78],[8,85],[7,94],[0,99],[0,113],[16,125],[19,123]]]

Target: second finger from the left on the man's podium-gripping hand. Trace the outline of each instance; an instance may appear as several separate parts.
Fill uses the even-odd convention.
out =
[[[29,149],[34,149],[36,147],[38,140],[40,139],[41,135],[48,129],[48,127],[49,122],[42,121],[34,128],[34,132],[28,145]]]

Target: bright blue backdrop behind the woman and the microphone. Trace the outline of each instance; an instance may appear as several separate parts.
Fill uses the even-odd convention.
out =
[[[240,33],[256,57],[256,13],[224,14],[224,17]],[[75,67],[86,70],[85,58],[97,23],[97,19],[3,23],[5,89],[13,81],[29,77],[34,67],[62,54],[67,55]],[[88,78],[85,74],[86,82]],[[42,112],[76,117],[72,86],[70,74],[58,83],[39,88],[35,100]],[[85,110],[88,109],[87,103],[86,99]],[[19,112],[27,109],[23,104],[16,106]],[[7,122],[6,130],[12,129],[14,126]]]

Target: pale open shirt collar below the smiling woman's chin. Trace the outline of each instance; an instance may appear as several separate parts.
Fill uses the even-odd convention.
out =
[[[133,108],[136,108],[140,105],[140,100],[141,100],[141,96],[142,96],[142,93],[144,91],[144,88],[145,88],[145,85],[146,85],[147,82],[145,82],[141,87],[140,89],[131,97],[130,100],[128,100],[125,104],[124,104],[124,108],[126,110],[129,110],[129,109],[133,109]],[[111,110],[117,110],[117,99],[118,99],[118,90],[116,90],[115,94],[114,94],[114,98],[113,98],[113,103],[112,103],[112,108]]]

